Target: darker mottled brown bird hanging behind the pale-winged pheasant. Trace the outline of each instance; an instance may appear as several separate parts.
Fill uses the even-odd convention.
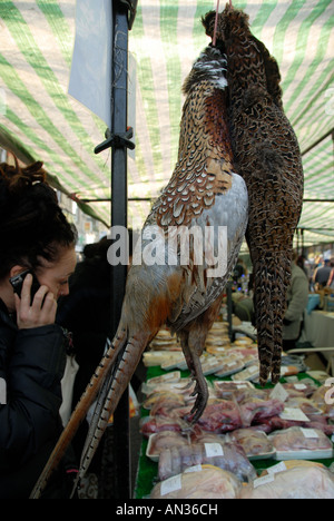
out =
[[[204,24],[213,37],[215,12]],[[281,375],[282,326],[293,236],[302,210],[303,167],[282,106],[277,62],[249,30],[248,16],[228,4],[216,38],[227,57],[228,120],[235,167],[246,181],[261,383]]]

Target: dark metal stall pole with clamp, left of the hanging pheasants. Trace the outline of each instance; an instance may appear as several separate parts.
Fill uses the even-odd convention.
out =
[[[106,141],[96,147],[96,154],[111,147],[111,227],[127,228],[127,149],[132,129],[127,128],[128,98],[128,31],[136,14],[137,0],[112,1],[112,67],[111,67],[111,129]],[[117,331],[125,295],[127,266],[118,264],[111,269],[111,337]],[[108,436],[108,430],[106,431]],[[116,499],[131,498],[129,393],[124,393],[114,415],[114,490]]]

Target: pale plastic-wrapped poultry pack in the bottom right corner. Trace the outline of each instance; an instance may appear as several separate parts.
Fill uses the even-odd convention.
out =
[[[334,478],[317,465],[301,465],[259,478],[240,499],[334,499]]]

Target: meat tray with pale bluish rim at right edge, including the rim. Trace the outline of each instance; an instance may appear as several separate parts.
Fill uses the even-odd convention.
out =
[[[318,429],[293,426],[268,435],[276,460],[324,460],[333,458],[333,443]]]

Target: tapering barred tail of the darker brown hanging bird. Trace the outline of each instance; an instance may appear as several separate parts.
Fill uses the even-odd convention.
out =
[[[254,263],[255,315],[259,357],[259,383],[281,377],[282,330],[289,279],[286,253],[263,255]]]

